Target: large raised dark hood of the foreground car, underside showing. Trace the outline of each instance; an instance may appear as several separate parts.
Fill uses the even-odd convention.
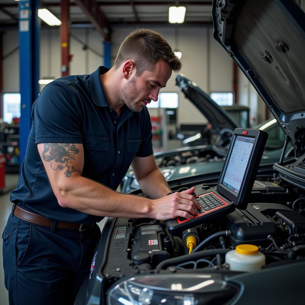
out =
[[[292,0],[213,0],[214,38],[305,150],[305,13]]]

